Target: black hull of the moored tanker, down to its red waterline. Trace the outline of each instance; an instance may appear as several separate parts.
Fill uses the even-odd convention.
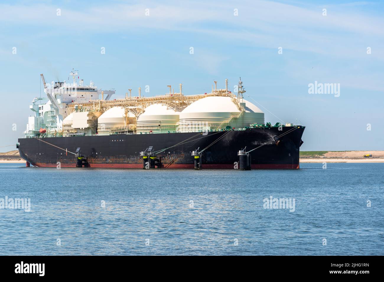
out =
[[[260,146],[250,152],[252,169],[298,169],[305,127],[278,129],[20,138],[18,149],[26,162],[38,167],[76,167],[73,152],[81,148],[87,167],[143,168],[140,152],[153,146],[160,168],[193,169],[192,151],[206,148],[201,157],[202,169],[233,169],[239,161],[239,150],[247,147],[250,151]]]

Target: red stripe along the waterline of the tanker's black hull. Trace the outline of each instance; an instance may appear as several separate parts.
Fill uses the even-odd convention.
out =
[[[56,167],[56,164],[36,163],[38,167]],[[61,164],[76,167],[76,164]],[[91,168],[142,169],[142,164],[88,164]],[[162,169],[165,167],[163,166]],[[252,169],[299,169],[300,164],[252,164]],[[157,168],[156,168],[157,169]],[[167,169],[194,169],[194,164],[172,164]],[[202,164],[202,169],[233,169],[233,164]]]

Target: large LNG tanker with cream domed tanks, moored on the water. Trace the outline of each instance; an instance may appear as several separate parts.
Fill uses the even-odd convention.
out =
[[[25,138],[17,148],[27,166],[169,169],[298,169],[304,126],[265,123],[264,113],[235,93],[169,93],[144,97],[141,88],[125,99],[114,89],[73,83],[46,84],[35,98]],[[147,90],[147,89],[146,89]],[[145,92],[147,93],[147,92]]]

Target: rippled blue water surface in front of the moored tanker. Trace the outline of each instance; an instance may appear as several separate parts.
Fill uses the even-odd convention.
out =
[[[303,163],[295,171],[22,166],[0,164],[0,198],[31,199],[30,212],[0,209],[1,254],[384,254],[384,164]],[[295,211],[263,208],[270,196],[295,198]]]

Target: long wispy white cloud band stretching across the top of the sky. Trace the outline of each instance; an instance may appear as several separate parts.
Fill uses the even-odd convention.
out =
[[[366,5],[366,2],[349,5]],[[202,1],[132,5],[108,3],[94,4],[87,10],[61,8],[61,16],[57,16],[56,9],[60,5],[1,4],[0,21],[66,28],[60,32],[82,30],[110,33],[151,28],[210,33],[228,40],[241,38],[248,44],[266,48],[283,46],[296,51],[337,56],[355,56],[356,50],[353,49],[357,46],[352,43],[356,38],[366,44],[384,45],[382,18],[346,12],[336,5],[331,7],[328,7],[327,16],[323,16],[321,7],[303,8],[270,1],[223,2],[220,5]],[[234,9],[238,9],[238,16],[233,15]],[[384,54],[373,52],[372,56],[384,60]]]

